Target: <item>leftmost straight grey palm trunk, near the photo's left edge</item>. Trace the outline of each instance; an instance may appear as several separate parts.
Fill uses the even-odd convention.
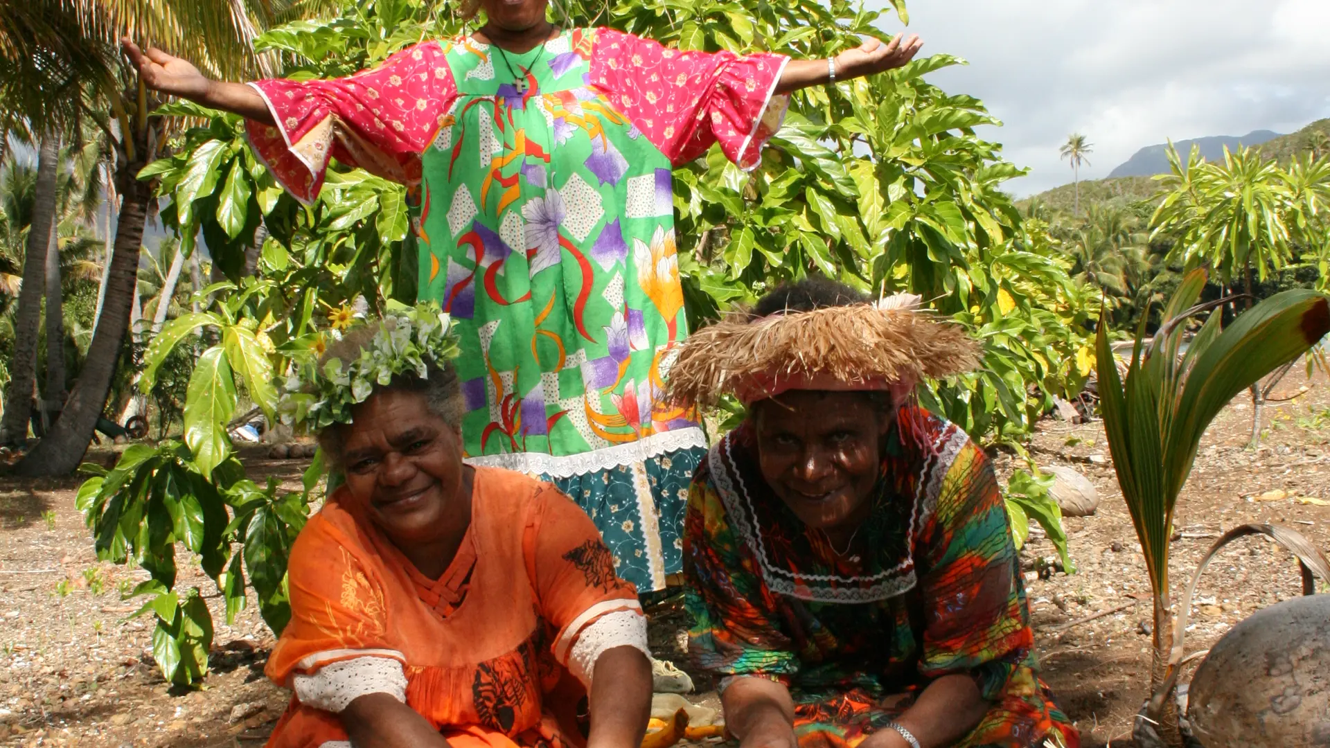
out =
[[[32,228],[23,262],[23,289],[15,318],[13,358],[9,359],[9,386],[5,390],[4,418],[0,419],[0,445],[17,446],[28,438],[32,418],[32,389],[37,370],[37,326],[47,277],[47,248],[51,224],[56,218],[56,169],[60,142],[44,134],[37,152],[37,184],[33,196]]]

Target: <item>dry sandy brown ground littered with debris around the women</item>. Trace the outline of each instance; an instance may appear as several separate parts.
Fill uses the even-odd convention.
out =
[[[1290,377],[1279,394],[1303,383]],[[1252,411],[1244,398],[1210,429],[1178,504],[1181,535],[1170,566],[1178,594],[1213,538],[1236,524],[1282,523],[1330,548],[1330,506],[1306,500],[1330,500],[1327,390],[1317,382],[1303,397],[1269,407],[1258,450],[1245,447]],[[1101,498],[1095,516],[1065,522],[1076,574],[1040,578],[1037,559],[1053,556],[1047,539],[1032,539],[1023,551],[1043,675],[1085,745],[1125,747],[1148,685],[1150,604],[1103,429],[1047,421],[1032,454],[1043,465],[1081,471]],[[305,467],[258,453],[246,462],[251,476],[273,474],[293,488]],[[1008,455],[996,462],[1000,474],[1016,466]],[[0,479],[0,744],[261,745],[290,695],[262,675],[273,639],[255,608],[226,624],[221,600],[210,599],[218,624],[213,673],[202,689],[170,688],[150,656],[150,619],[129,619],[137,606],[120,596],[146,574],[97,562],[74,510],[77,484]],[[189,559],[180,567],[178,587],[215,594]],[[1287,552],[1264,539],[1234,543],[1201,583],[1188,650],[1209,647],[1236,622],[1299,591]],[[1101,611],[1116,612],[1084,620]],[[685,626],[674,606],[657,611],[652,643],[661,657],[685,664],[678,638]],[[700,679],[700,685],[706,684]],[[714,703],[714,693],[693,699]]]

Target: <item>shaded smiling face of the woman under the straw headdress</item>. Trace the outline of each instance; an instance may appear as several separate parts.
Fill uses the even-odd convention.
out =
[[[791,390],[758,405],[762,476],[809,527],[853,526],[871,511],[880,447],[894,423],[864,393]]]

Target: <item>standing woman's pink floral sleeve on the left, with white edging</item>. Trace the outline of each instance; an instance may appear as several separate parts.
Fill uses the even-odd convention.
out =
[[[378,68],[336,80],[251,83],[277,125],[246,122],[249,141],[297,200],[319,194],[329,158],[406,185],[456,97],[438,43],[411,47]]]

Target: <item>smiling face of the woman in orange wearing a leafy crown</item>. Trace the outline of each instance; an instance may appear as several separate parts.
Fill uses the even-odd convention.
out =
[[[462,438],[420,393],[386,390],[340,426],[343,499],[398,547],[440,540],[471,515],[463,490]]]

